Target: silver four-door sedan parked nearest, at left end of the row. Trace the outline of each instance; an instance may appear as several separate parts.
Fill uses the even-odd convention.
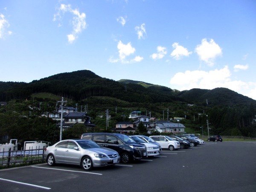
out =
[[[49,166],[56,163],[80,165],[89,171],[93,167],[109,166],[119,163],[117,151],[102,147],[92,140],[62,140],[45,148],[44,159]]]

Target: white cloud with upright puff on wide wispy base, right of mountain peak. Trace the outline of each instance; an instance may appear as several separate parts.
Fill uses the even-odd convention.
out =
[[[121,61],[122,63],[134,63],[140,62],[143,60],[143,57],[135,56],[135,58],[131,59],[130,61],[127,60],[127,57],[134,54],[135,48],[131,46],[131,43],[123,44],[122,41],[119,41],[117,44],[117,49],[119,52],[119,59],[114,59],[113,57],[109,58],[109,62],[116,63]]]

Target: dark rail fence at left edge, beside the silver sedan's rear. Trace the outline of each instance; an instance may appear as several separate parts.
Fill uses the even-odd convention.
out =
[[[44,162],[44,148],[0,151],[0,169]]]

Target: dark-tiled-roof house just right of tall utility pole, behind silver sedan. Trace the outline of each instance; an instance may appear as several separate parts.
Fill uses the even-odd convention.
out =
[[[63,116],[62,128],[68,128],[76,125],[77,123],[83,124],[86,127],[95,127],[96,125],[90,122],[91,117],[87,116],[86,112],[70,112]],[[61,126],[61,123],[57,124]]]

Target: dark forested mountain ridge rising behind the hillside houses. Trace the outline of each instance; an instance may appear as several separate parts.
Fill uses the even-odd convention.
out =
[[[97,76],[89,70],[60,73],[30,83],[0,81],[0,102],[9,103],[8,107],[0,108],[0,117],[2,115],[6,119],[5,113],[9,111],[12,114],[14,108],[18,112],[17,106],[20,103],[22,106],[28,105],[23,103],[25,100],[29,105],[40,108],[38,115],[55,110],[56,99],[43,98],[39,93],[58,96],[59,99],[63,96],[69,100],[69,106],[79,106],[81,110],[88,105],[88,113],[99,129],[105,127],[105,122],[97,115],[104,115],[105,110],[110,109],[110,127],[125,118],[129,120],[127,116],[132,111],[141,111],[142,114],[157,119],[183,117],[181,123],[193,132],[200,133],[199,128],[206,127],[206,120],[209,120],[212,134],[256,137],[253,120],[256,115],[256,101],[232,90],[215,88],[179,91],[141,81],[114,81]],[[20,110],[24,109],[25,107]],[[36,116],[35,111],[19,113],[24,113],[23,116]],[[12,117],[14,118],[13,114]],[[20,118],[20,121],[24,120],[23,117]],[[6,124],[0,119],[0,125]],[[17,123],[13,126],[21,125]]]

